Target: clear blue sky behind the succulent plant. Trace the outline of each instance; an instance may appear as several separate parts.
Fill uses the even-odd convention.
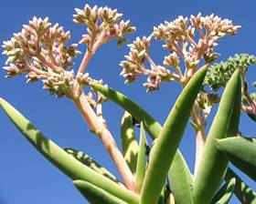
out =
[[[84,27],[72,23],[74,8],[82,8],[85,4],[108,5],[117,8],[123,13],[124,19],[131,19],[132,25],[137,27],[135,34],[129,36],[130,42],[135,36],[147,36],[153,26],[163,21],[171,21],[178,15],[203,15],[214,13],[221,17],[233,20],[235,25],[240,25],[237,36],[225,37],[219,41],[217,47],[221,54],[219,59],[226,59],[236,53],[249,53],[256,55],[255,20],[256,3],[254,1],[60,1],[60,0],[11,0],[0,1],[0,41],[10,39],[14,32],[20,31],[22,25],[33,15],[48,16],[52,23],[59,22],[65,30],[71,31],[72,42],[78,42],[84,33]],[[154,45],[160,47],[160,45]],[[80,46],[80,51],[85,47]],[[161,52],[152,50],[156,62],[163,60]],[[1,51],[2,52],[2,51]],[[88,67],[91,76],[103,78],[110,87],[121,90],[127,96],[133,98],[144,106],[161,123],[165,121],[170,108],[180,91],[176,84],[165,84],[159,91],[146,94],[142,81],[138,80],[131,86],[123,85],[123,77],[119,76],[121,67],[119,63],[128,52],[123,46],[118,48],[116,42],[102,46],[94,56]],[[77,58],[79,65],[81,56]],[[5,57],[0,57],[0,64],[4,66]],[[76,69],[77,66],[74,68]],[[255,81],[255,66],[250,68],[249,81]],[[84,124],[79,112],[71,101],[66,98],[58,99],[49,97],[43,90],[42,83],[26,85],[24,77],[15,77],[12,80],[4,78],[5,72],[0,71],[0,97],[4,97],[25,116],[27,116],[37,128],[41,129],[48,138],[56,141],[59,146],[79,148],[93,158],[101,162],[113,173],[117,173],[112,161],[101,147],[99,140],[91,135]],[[112,102],[105,104],[104,117],[112,130],[114,138],[120,145],[120,119],[123,110]],[[240,130],[245,135],[255,136],[256,126],[248,117],[242,114]],[[195,156],[194,132],[187,128],[182,140],[181,151],[187,158],[189,167],[193,169]],[[27,143],[21,134],[14,128],[4,112],[0,112],[0,204],[69,204],[86,203],[80,193],[73,188],[71,180],[54,168],[45,158]],[[247,179],[251,187],[256,190],[255,183]],[[210,185],[210,184],[209,184]],[[237,203],[233,199],[232,203]]]

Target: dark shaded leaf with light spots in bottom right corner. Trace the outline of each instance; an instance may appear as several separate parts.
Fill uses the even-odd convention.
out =
[[[241,204],[256,204],[256,192],[253,191],[240,177],[231,169],[228,168],[225,180],[235,178],[236,186],[234,193],[240,200]]]

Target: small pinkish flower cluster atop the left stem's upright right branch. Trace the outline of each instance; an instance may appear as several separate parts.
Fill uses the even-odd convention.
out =
[[[91,8],[90,5],[85,5],[83,9],[76,8],[75,11],[77,14],[73,15],[73,21],[88,26],[88,34],[82,36],[80,43],[90,45],[92,53],[97,46],[114,38],[117,38],[118,45],[122,46],[126,41],[123,35],[135,31],[135,27],[130,26],[129,20],[120,21],[123,15],[117,13],[116,9],[112,10],[107,6],[98,8],[97,5]],[[98,43],[93,47],[95,42]]]

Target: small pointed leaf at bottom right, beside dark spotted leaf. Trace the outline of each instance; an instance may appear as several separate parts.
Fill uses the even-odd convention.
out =
[[[211,200],[211,204],[228,204],[236,186],[236,179],[230,179],[216,193]]]

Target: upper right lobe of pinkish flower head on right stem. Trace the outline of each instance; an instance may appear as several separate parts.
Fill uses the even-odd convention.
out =
[[[218,46],[217,40],[226,35],[235,35],[239,28],[233,26],[229,19],[221,20],[218,15],[204,17],[199,13],[197,16],[191,15],[189,21],[187,17],[179,16],[173,22],[154,27],[153,36],[156,40],[164,41],[165,48],[182,56],[190,68],[195,63],[197,66],[197,60],[202,57],[206,63],[214,61],[219,56],[213,52],[213,48]]]

